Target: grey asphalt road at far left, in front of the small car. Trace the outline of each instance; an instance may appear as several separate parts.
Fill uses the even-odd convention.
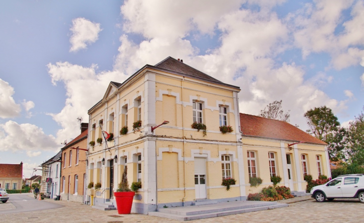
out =
[[[31,197],[30,197],[31,196]],[[9,205],[7,203],[11,203]],[[39,201],[34,199],[32,194],[9,194],[9,200],[7,203],[0,203],[0,215],[2,214],[12,214],[12,213],[22,213],[22,212],[39,212],[43,210],[62,208],[63,205],[56,203],[49,203],[46,201]],[[7,208],[3,210],[1,206],[11,206],[11,208]]]

